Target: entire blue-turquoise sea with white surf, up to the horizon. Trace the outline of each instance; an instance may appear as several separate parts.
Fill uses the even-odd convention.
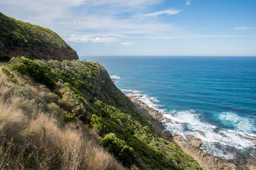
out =
[[[125,94],[173,120],[163,122],[166,129],[202,139],[212,155],[233,159],[237,152],[255,149],[256,57],[81,59],[100,62],[119,78],[116,86]]]

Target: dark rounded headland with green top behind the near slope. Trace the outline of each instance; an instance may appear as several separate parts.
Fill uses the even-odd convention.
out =
[[[77,60],[78,56],[56,32],[0,13],[0,55],[29,59]]]

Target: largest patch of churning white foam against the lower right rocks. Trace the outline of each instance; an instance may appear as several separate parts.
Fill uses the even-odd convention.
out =
[[[255,134],[232,131],[230,129],[219,129],[215,125],[204,122],[194,110],[171,111],[170,113],[164,113],[164,117],[172,120],[172,123],[163,121],[168,131],[177,132],[184,138],[188,134],[200,138],[206,150],[214,156],[234,159],[232,150],[255,148]],[[203,132],[204,135],[198,131]]]

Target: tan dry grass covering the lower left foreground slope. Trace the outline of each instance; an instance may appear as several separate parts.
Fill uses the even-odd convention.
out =
[[[61,121],[61,108],[45,103],[49,92],[0,73],[0,169],[124,169],[93,129]]]

